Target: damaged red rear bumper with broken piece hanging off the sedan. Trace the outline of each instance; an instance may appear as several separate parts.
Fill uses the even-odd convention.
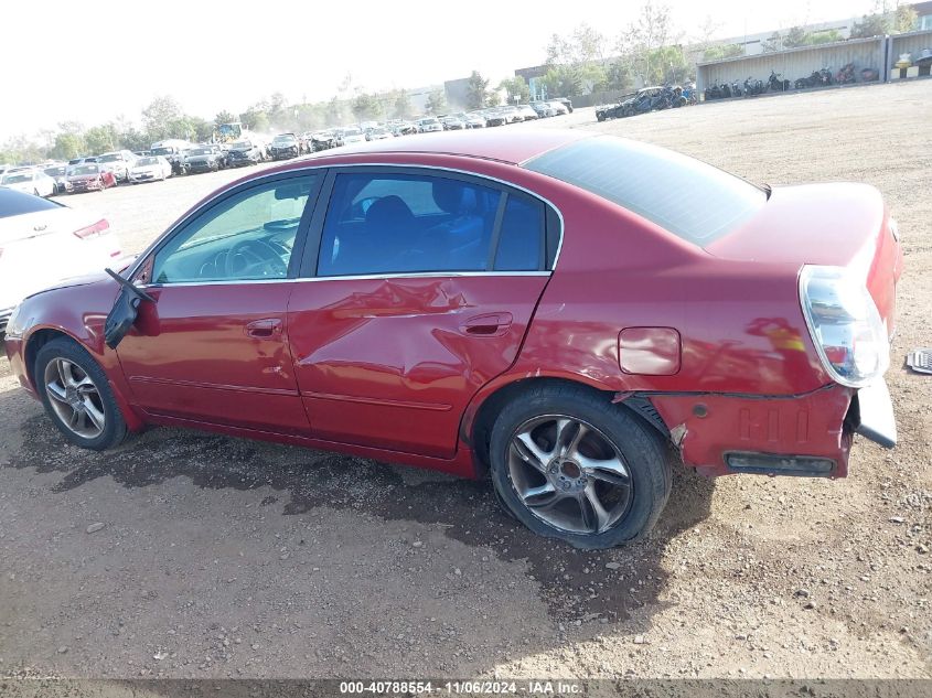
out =
[[[828,385],[795,396],[654,395],[683,462],[705,475],[758,473],[845,477],[855,433],[891,448],[896,422],[886,383]]]

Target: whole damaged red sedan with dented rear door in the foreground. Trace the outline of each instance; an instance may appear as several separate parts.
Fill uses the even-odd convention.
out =
[[[470,477],[587,548],[707,475],[886,447],[902,255],[860,184],[770,189],[548,130],[386,140],[247,176],[122,277],[25,300],[7,354],[71,442],[189,426]]]

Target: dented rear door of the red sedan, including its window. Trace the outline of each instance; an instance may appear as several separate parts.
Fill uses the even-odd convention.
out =
[[[329,175],[288,308],[314,437],[451,457],[549,279],[546,206],[437,169]]]

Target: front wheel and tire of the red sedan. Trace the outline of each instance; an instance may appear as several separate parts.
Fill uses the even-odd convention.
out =
[[[107,375],[83,346],[66,337],[52,340],[39,350],[33,375],[45,412],[68,441],[104,451],[126,438],[126,420]]]

